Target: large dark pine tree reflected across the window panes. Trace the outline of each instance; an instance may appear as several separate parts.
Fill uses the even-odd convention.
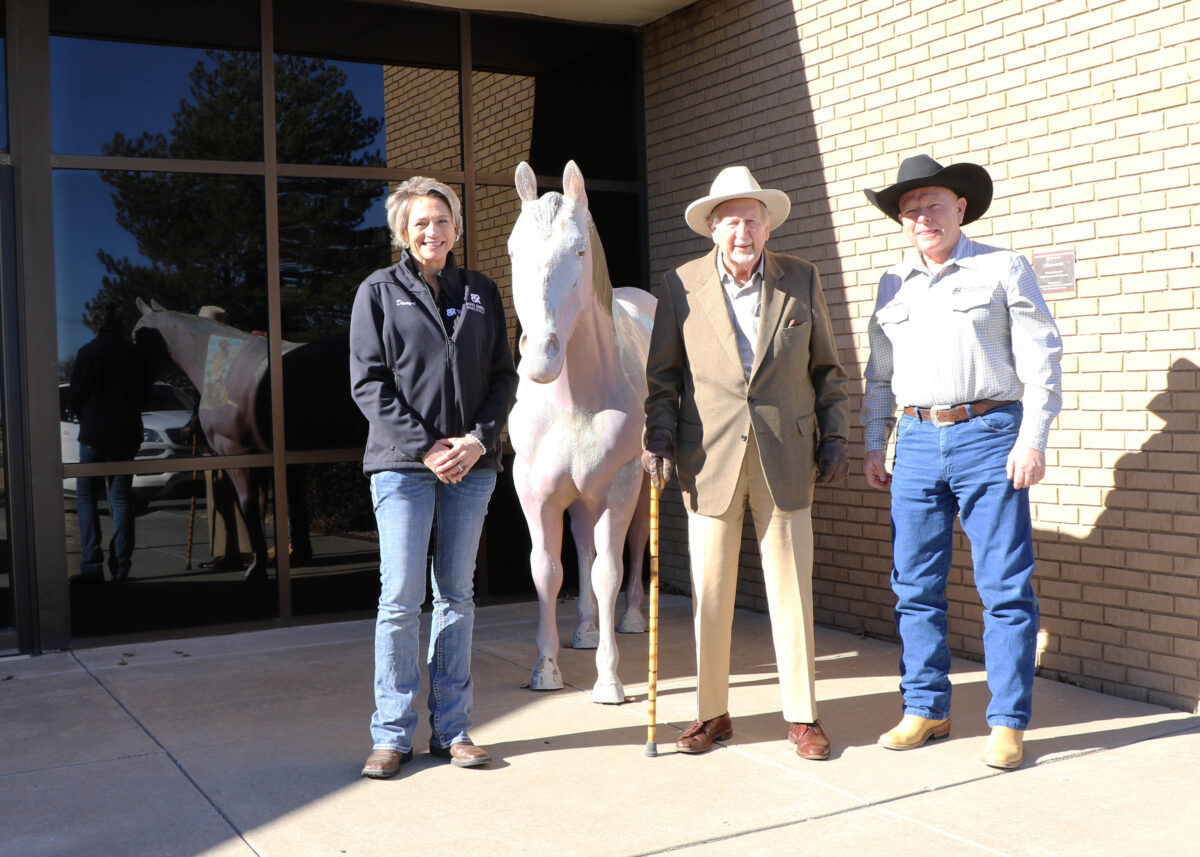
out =
[[[104,155],[260,161],[259,56],[210,50],[190,72],[169,133],[118,132]],[[366,116],[346,74],[319,59],[280,56],[275,64],[278,158],[286,163],[382,166],[382,121]],[[232,325],[265,330],[265,200],[256,176],[109,170],[116,222],[143,260],[101,248],[106,275],[96,298],[115,299],[137,320],[134,298],[196,312],[224,307]],[[367,224],[382,182],[288,179],[280,193],[283,336],[311,341],[344,329],[354,288],[389,264],[386,227]],[[268,188],[268,192],[274,188]]]

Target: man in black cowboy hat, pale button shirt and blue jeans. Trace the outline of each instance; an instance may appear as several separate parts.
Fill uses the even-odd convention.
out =
[[[1032,715],[1038,606],[1028,487],[1062,406],[1062,338],[1026,259],[961,227],[991,203],[988,172],[918,155],[866,198],[916,250],[880,281],[863,398],[866,481],[892,491],[904,718],[893,750],[950,731],[946,582],[954,519],[971,540],[984,605],[991,736],[984,762],[1020,766]],[[904,408],[893,473],[884,448]]]

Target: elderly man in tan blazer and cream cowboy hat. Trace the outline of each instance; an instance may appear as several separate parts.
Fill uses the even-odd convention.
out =
[[[721,170],[684,215],[716,245],[671,271],[647,364],[642,465],[678,473],[688,508],[696,629],[696,720],[680,753],[733,736],[730,647],[749,502],[770,609],[788,741],[828,759],[812,666],[812,486],[844,479],[846,374],[816,268],[766,250],[791,202],[745,167]]]

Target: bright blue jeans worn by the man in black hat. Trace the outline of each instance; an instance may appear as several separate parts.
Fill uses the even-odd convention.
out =
[[[905,415],[892,479],[893,568],[904,713],[950,715],[946,581],[954,516],[971,540],[983,601],[989,726],[1024,730],[1033,712],[1038,603],[1028,490],[1006,473],[1021,406],[938,428]]]

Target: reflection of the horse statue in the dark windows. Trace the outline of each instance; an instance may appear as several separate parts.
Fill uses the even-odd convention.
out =
[[[156,301],[137,301],[142,318],[134,335],[154,331],[170,360],[200,394],[197,416],[217,455],[271,451],[271,390],[265,336],[211,318],[166,310]],[[314,342],[283,343],[286,447],[290,450],[354,448],[366,443],[367,424],[350,397],[347,366],[349,335]],[[266,580],[268,550],[263,513],[269,468],[226,471],[238,492],[238,505],[253,555],[247,581]],[[292,544],[306,544],[308,522],[304,501],[304,468],[288,467]]]

